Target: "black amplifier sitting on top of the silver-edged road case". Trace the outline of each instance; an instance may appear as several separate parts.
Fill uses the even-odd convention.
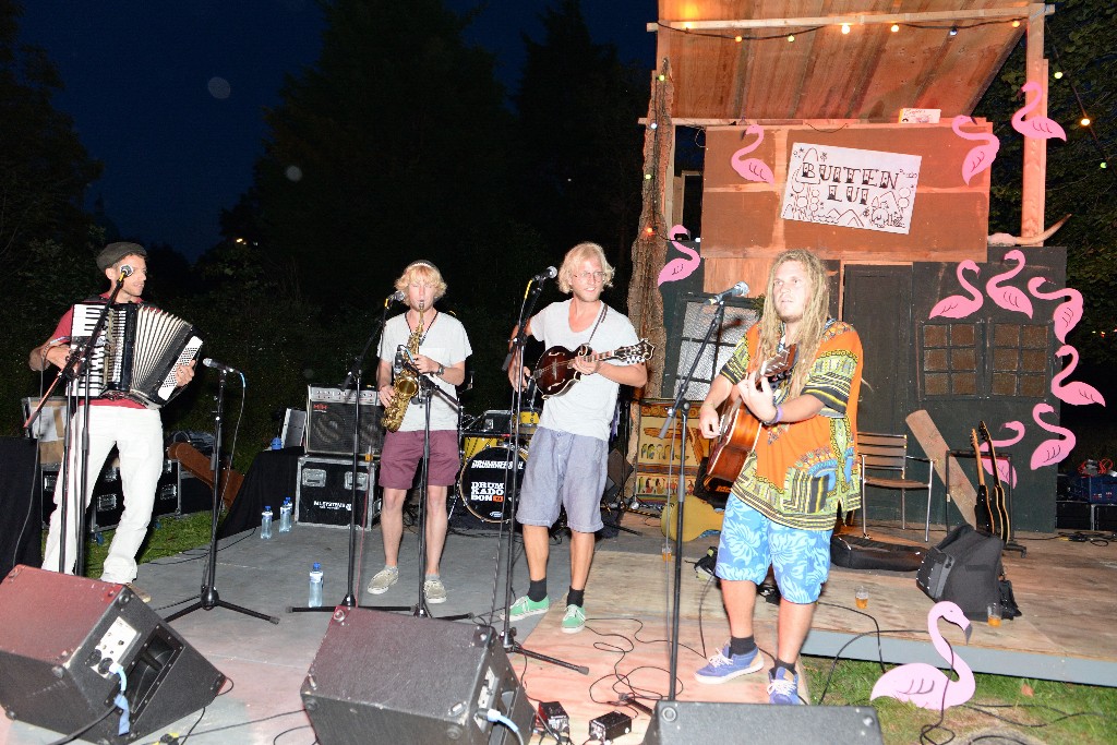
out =
[[[319,456],[353,455],[353,418],[356,407],[352,389],[307,386],[306,452]],[[380,452],[384,443],[384,429],[380,424],[384,413],[376,391],[361,391],[361,452]]]

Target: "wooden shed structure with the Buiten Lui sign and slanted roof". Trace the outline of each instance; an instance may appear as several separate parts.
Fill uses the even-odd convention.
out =
[[[1024,36],[1027,77],[1041,82],[1038,112],[1046,112],[1051,12],[1021,0],[659,0],[648,25],[657,69],[629,295],[638,331],[666,351],[648,394],[675,394],[687,361],[679,351],[687,298],[739,280],[762,295],[775,255],[810,248],[833,271],[833,314],[865,344],[862,430],[907,431],[930,450],[926,432],[908,429],[913,412],[929,414],[947,449],[967,448],[978,419],[994,438],[1022,431],[1002,448],[1012,458],[1015,526],[1053,529],[1056,466],[1032,468],[1032,453],[1058,426],[1056,303],[1031,296],[1033,309],[1023,313],[980,290],[1010,280],[1024,288],[1035,277],[1061,288],[1066,254],[1038,241],[991,245],[990,170],[964,173],[964,164],[993,127],[983,120],[952,127]],[[679,133],[693,131],[704,144],[701,209],[699,223],[685,226],[695,238],[685,245],[700,264],[686,280],[660,284],[679,256],[671,228],[684,222],[687,193],[676,147]],[[1022,236],[1043,230],[1044,160],[1046,143],[1028,140]],[[937,300],[957,294],[982,302],[964,317],[932,317]],[[945,453],[928,455],[943,461]],[[967,468],[964,459],[954,466]],[[964,504],[968,488],[955,483],[961,477],[944,486],[944,476],[941,468],[932,505],[939,523],[957,519],[944,489]],[[868,502],[870,518],[899,516],[896,500],[870,494]],[[908,519],[922,522],[924,506],[913,503]]]

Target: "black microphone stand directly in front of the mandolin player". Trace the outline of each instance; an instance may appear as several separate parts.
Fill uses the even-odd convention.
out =
[[[513,400],[513,430],[512,430],[512,452],[509,453],[509,459],[513,461],[513,468],[518,469],[519,464],[517,462],[517,455],[519,453],[519,424],[521,424],[521,412],[523,411],[523,370],[524,370],[524,345],[527,343],[527,319],[532,317],[533,311],[535,309],[535,304],[540,299],[540,294],[543,292],[542,281],[532,281],[528,286],[527,293],[524,295],[524,303],[519,308],[519,321],[516,327],[516,336],[513,338],[512,348],[508,351],[508,356],[504,361],[504,370],[507,371],[510,365],[515,365],[516,369],[516,384],[512,386],[512,400]],[[507,469],[505,470],[507,472]],[[540,652],[534,652],[518,641],[516,641],[516,629],[512,628],[510,619],[508,615],[512,613],[512,570],[513,570],[513,558],[515,555],[516,545],[516,503],[519,499],[519,479],[516,478],[517,471],[513,470],[513,476],[507,487],[505,488],[505,495],[507,499],[508,508],[508,544],[507,552],[505,554],[505,576],[504,576],[504,628],[500,631],[500,640],[506,653],[518,653],[524,657],[529,657],[541,662],[548,662],[551,665],[557,665],[564,667],[567,670],[573,670],[574,672],[581,672],[582,675],[590,675],[590,668],[584,665],[574,665],[573,662],[567,662],[565,660],[560,660],[555,657],[547,657],[546,655],[541,655]],[[502,523],[502,531],[504,529],[504,523]],[[497,552],[497,562],[499,563],[499,551]],[[499,574],[499,569],[497,570]]]

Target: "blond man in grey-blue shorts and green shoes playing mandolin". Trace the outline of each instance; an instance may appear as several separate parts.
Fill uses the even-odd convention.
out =
[[[613,268],[596,243],[579,243],[570,249],[558,270],[558,289],[572,297],[552,303],[527,323],[527,332],[546,347],[576,350],[588,344],[594,352],[636,344],[636,329],[623,314],[601,300],[601,292],[612,285]],[[523,388],[531,370],[523,365],[522,352],[508,367],[508,380]],[[621,385],[642,386],[648,370],[642,362],[620,364],[590,356],[574,359],[582,374],[565,392],[543,404],[538,429],[524,471],[516,519],[523,525],[524,554],[531,585],[527,594],[509,609],[516,621],[547,612],[547,554],[550,527],[566,508],[571,529],[570,591],[562,629],[576,633],[585,627],[585,584],[593,563],[594,533],[602,527],[601,495],[605,487],[609,432]]]

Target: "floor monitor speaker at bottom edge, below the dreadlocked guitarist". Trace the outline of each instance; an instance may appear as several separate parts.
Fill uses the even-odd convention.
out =
[[[727,732],[768,733],[796,745],[884,744],[871,706],[772,706],[659,701],[643,745],[690,745],[724,739]]]

